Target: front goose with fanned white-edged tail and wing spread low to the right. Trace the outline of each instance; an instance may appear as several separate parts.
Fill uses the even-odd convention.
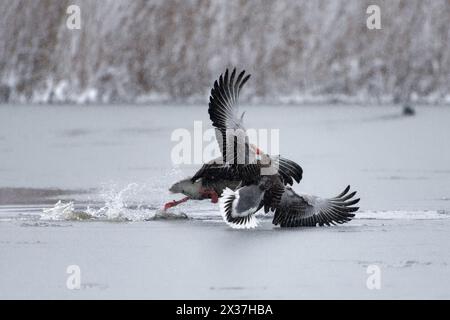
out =
[[[283,228],[314,227],[342,224],[350,221],[358,207],[356,191],[350,186],[336,197],[320,198],[297,194],[284,186],[277,176],[263,177],[258,183],[248,183],[236,190],[225,189],[219,200],[224,221],[232,228],[251,229],[258,225],[255,213],[274,212],[272,223]]]

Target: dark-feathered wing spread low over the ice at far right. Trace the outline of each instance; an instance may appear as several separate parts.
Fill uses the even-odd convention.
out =
[[[322,199],[314,196],[298,195],[286,187],[272,223],[281,227],[313,227],[326,224],[342,224],[350,221],[358,211],[354,207],[359,199],[354,199],[356,191],[348,193],[350,186],[337,197]]]

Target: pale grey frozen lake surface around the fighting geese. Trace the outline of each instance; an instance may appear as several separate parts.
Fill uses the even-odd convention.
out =
[[[171,133],[209,128],[206,106],[2,106],[0,298],[450,298],[450,109],[245,109],[247,127],[280,129],[297,191],[351,184],[356,219],[282,230],[261,215],[236,231],[206,201],[158,218],[200,166],[172,165]]]

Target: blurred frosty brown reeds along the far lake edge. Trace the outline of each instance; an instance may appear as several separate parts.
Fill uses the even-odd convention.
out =
[[[66,27],[79,5],[81,29]],[[366,9],[381,8],[381,30]],[[450,103],[449,0],[0,0],[0,102]]]

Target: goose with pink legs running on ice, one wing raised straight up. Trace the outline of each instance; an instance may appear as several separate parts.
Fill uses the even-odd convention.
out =
[[[243,124],[245,112],[238,116],[238,98],[250,78],[245,70],[228,69],[214,82],[208,113],[216,128],[216,139],[221,156],[205,163],[192,177],[174,183],[169,191],[185,195],[180,200],[167,202],[163,210],[191,199],[211,199],[217,203],[223,190],[235,190],[242,181],[250,183],[261,179],[261,172],[276,174],[283,185],[299,183],[303,169],[292,160],[264,153],[249,143]]]

